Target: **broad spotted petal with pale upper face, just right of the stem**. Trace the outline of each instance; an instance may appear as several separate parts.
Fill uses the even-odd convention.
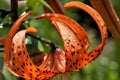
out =
[[[79,32],[74,32],[73,29],[70,28],[69,23],[63,24],[58,21],[53,21],[53,24],[59,28],[58,30],[64,41],[64,51],[66,53],[66,71],[78,70],[78,66],[82,66],[81,63],[87,50],[85,48],[82,38],[76,35]],[[76,26],[73,27],[76,28]]]

